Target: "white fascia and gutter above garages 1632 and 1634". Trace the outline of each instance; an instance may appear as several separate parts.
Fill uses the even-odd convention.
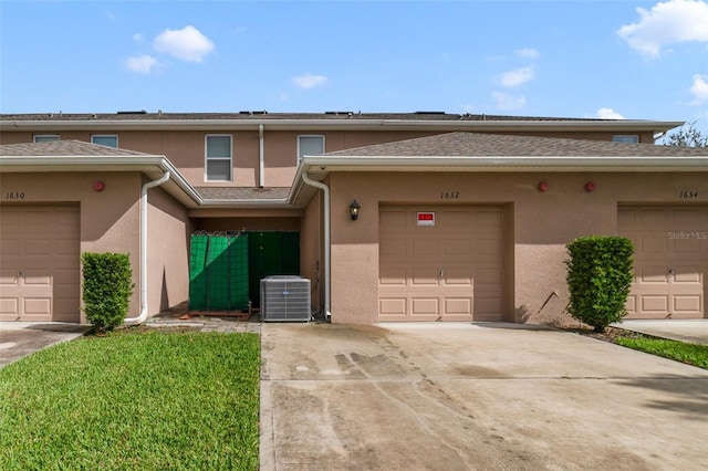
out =
[[[708,157],[303,157],[302,171],[708,171]]]

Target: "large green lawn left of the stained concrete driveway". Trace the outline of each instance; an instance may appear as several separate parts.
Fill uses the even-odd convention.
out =
[[[112,333],[0,369],[2,470],[256,470],[254,334]]]

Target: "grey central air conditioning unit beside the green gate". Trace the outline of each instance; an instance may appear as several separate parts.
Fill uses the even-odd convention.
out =
[[[310,322],[310,280],[271,275],[261,280],[262,322]]]

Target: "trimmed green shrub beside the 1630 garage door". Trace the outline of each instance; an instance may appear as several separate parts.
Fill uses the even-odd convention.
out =
[[[123,324],[133,293],[131,259],[124,253],[81,254],[84,312],[98,332]]]

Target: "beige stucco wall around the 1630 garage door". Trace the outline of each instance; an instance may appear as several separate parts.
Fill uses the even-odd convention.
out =
[[[103,181],[103,191],[93,184]],[[81,252],[127,253],[133,281],[139,285],[139,195],[137,172],[0,174],[0,188],[22,192],[15,203],[79,202],[81,207]],[[83,283],[83,282],[82,282]],[[139,312],[139,290],[131,297],[128,316]],[[85,323],[85,315],[81,314]]]

